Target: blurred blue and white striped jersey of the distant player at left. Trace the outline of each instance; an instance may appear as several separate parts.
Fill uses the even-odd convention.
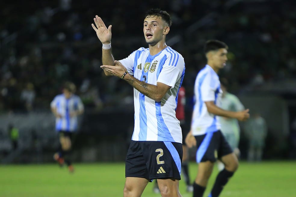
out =
[[[56,108],[57,113],[62,116],[62,118],[56,118],[57,131],[76,131],[77,116],[70,117],[70,113],[84,109],[79,96],[73,94],[69,99],[66,99],[64,94],[59,94],[54,97],[54,100],[51,102],[50,106],[51,108]]]

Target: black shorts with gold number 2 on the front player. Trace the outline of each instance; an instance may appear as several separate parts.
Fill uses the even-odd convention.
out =
[[[125,159],[125,177],[180,180],[182,157],[181,143],[132,140]]]

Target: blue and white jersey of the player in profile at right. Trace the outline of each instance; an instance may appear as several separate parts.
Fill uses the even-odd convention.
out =
[[[196,76],[194,84],[195,105],[191,130],[193,135],[203,135],[221,129],[219,117],[208,112],[206,101],[214,101],[217,106],[221,105],[222,89],[217,73],[206,65]]]

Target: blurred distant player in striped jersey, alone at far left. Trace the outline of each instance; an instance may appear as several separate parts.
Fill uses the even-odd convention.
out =
[[[79,96],[74,94],[75,91],[74,83],[66,82],[63,86],[63,94],[57,95],[50,104],[51,111],[56,117],[56,131],[60,140],[60,147],[54,154],[54,159],[60,165],[66,162],[69,172],[74,171],[70,159],[72,135],[77,129],[77,116],[84,112],[84,106]]]

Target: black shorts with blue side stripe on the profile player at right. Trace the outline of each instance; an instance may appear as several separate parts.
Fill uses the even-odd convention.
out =
[[[233,152],[220,130],[204,135],[194,136],[196,139],[196,162],[215,162],[224,155]]]

